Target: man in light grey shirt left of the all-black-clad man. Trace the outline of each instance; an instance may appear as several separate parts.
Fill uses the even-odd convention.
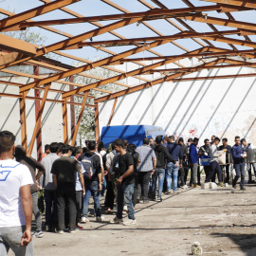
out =
[[[60,158],[57,155],[59,149],[59,144],[57,142],[52,142],[50,144],[50,154],[46,155],[41,161],[41,163],[46,168],[45,172],[45,182],[42,187],[45,188],[45,203],[46,203],[46,231],[55,231],[57,228],[57,199],[56,199],[56,187],[52,179],[52,174],[50,173],[53,162]]]

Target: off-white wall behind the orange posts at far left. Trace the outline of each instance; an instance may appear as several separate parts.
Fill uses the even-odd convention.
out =
[[[10,82],[27,83],[33,82],[33,79],[26,78],[1,78]],[[51,88],[60,89],[63,86],[64,90],[69,88],[69,85],[62,85],[60,83],[53,82]],[[0,84],[0,92],[9,94],[19,94],[19,88],[11,85]],[[27,96],[34,97],[34,91],[30,90]],[[41,93],[41,98],[44,96],[44,91]],[[62,96],[55,92],[48,92],[48,99],[62,100]],[[40,101],[42,102],[42,101]],[[26,112],[27,112],[27,143],[29,145],[31,137],[33,135],[33,129],[35,126],[35,104],[34,100],[26,100]],[[67,117],[68,117],[68,136],[71,137],[71,124],[70,124],[70,105],[67,105]],[[63,130],[63,109],[62,103],[54,103],[46,101],[45,110],[42,117],[42,144],[43,152],[45,145],[51,142],[63,142],[64,130]],[[20,131],[20,105],[19,99],[0,97],[0,131],[8,130],[16,136],[16,145],[21,144],[21,131]],[[32,156],[37,158],[36,153],[36,141],[33,147]]]

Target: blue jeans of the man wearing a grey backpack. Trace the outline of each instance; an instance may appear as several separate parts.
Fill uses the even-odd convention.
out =
[[[82,216],[87,217],[91,195],[93,196],[94,211],[96,217],[101,217],[101,192],[99,192],[99,181],[90,181],[85,183],[85,196],[83,199]]]

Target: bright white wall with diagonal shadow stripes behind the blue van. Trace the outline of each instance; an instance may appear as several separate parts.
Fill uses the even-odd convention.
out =
[[[254,68],[220,68],[204,70],[197,76],[252,72]],[[239,135],[256,145],[255,99],[256,77],[165,82],[119,97],[111,125],[157,125],[167,135],[200,137],[200,144],[215,135],[228,137],[233,145],[234,137]],[[100,133],[107,125],[113,102],[99,103]]]

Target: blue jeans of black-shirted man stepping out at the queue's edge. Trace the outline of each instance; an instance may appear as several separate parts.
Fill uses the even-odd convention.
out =
[[[123,201],[128,209],[128,218],[135,220],[135,210],[133,205],[133,193],[135,184],[121,184],[118,186],[118,212],[117,217],[122,219]]]

